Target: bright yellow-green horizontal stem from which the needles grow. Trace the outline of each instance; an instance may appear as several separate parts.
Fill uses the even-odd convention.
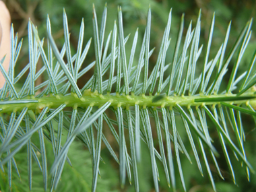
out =
[[[21,100],[0,101],[0,114],[10,113],[13,111],[21,111],[24,107],[28,107],[30,110],[42,110],[45,106],[49,108],[57,108],[61,104],[66,104],[67,107],[76,108],[77,106],[102,106],[106,102],[110,101],[114,107],[135,106],[138,104],[140,107],[146,108],[147,106],[153,107],[170,107],[172,108],[176,104],[180,106],[201,106],[201,105],[214,105],[221,102],[228,102],[231,104],[251,104],[253,108],[256,107],[256,96],[254,92],[247,92],[243,96],[236,96],[236,94],[221,94],[210,96],[120,96],[110,94],[98,94],[98,92],[90,92],[86,90],[82,98],[78,98],[76,94],[69,96],[43,96],[41,98],[32,98],[31,96],[23,98]],[[152,102],[153,100],[153,102]],[[23,101],[26,101],[23,103]]]

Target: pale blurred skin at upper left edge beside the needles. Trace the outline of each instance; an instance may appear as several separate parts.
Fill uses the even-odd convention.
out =
[[[0,1],[0,61],[5,56],[5,61],[2,63],[5,71],[8,71],[10,60],[10,29],[11,15],[3,1]],[[0,72],[0,89],[5,83],[5,77]]]

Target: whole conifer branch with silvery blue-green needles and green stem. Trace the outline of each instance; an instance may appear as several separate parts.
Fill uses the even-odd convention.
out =
[[[247,22],[230,51],[227,49],[227,42],[230,41],[228,40],[230,26],[228,26],[224,37],[224,43],[219,45],[219,49],[212,51],[215,17],[212,18],[208,40],[203,47],[205,54],[202,54],[202,46],[199,46],[201,13],[199,12],[194,29],[192,29],[192,24],[189,24],[184,39],[182,35],[185,21],[182,16],[176,45],[173,40],[169,40],[172,21],[172,15],[169,14],[156,65],[150,69],[150,56],[154,51],[154,49],[150,50],[151,9],[148,11],[144,38],[140,42],[137,40],[138,31],[135,32],[132,40],[131,36],[125,38],[124,35],[127,33],[123,31],[121,8],[119,9],[118,25],[114,24],[113,32],[108,35],[107,40],[104,40],[105,30],[110,25],[105,23],[106,7],[100,28],[98,28],[95,10],[93,14],[93,43],[96,61],[86,65],[84,69],[81,67],[88,54],[91,40],[87,38],[88,42],[82,49],[85,31],[82,22],[77,35],[79,36],[78,46],[76,53],[73,54],[65,11],[63,14],[65,43],[61,53],[51,35],[49,18],[46,25],[49,36],[47,52],[43,49],[44,39],[40,40],[38,29],[32,22],[29,22],[30,61],[16,77],[14,77],[13,71],[22,42],[18,44],[18,37],[14,37],[12,29],[12,60],[8,73],[1,68],[7,82],[1,90],[2,101],[0,102],[0,113],[2,114],[0,117],[2,128],[1,164],[4,166],[5,163],[7,164],[5,170],[7,170],[8,177],[11,178],[13,168],[18,172],[19,166],[15,163],[17,160],[13,155],[19,150],[24,150],[28,157],[30,189],[32,188],[34,160],[38,162],[36,165],[41,166],[44,190],[47,190],[49,185],[51,190],[54,189],[59,183],[65,161],[67,164],[73,162],[67,152],[71,143],[75,142],[74,139],[77,138],[88,148],[92,158],[92,191],[96,189],[98,174],[102,175],[101,169],[99,170],[100,160],[104,161],[100,154],[102,141],[120,166],[121,186],[125,185],[125,177],[128,177],[129,182],[134,183],[137,191],[139,185],[143,184],[137,172],[138,164],[144,158],[141,156],[140,150],[140,142],[143,141],[150,152],[149,159],[156,191],[159,185],[159,175],[163,174],[167,184],[171,185],[173,190],[177,188],[176,180],[178,178],[181,179],[182,184],[178,188],[186,189],[185,183],[187,182],[183,177],[183,171],[184,174],[187,172],[184,168],[185,162],[180,158],[181,153],[187,156],[189,162],[193,161],[194,164],[197,164],[201,174],[207,174],[210,177],[212,187],[216,190],[212,164],[216,166],[219,177],[223,178],[216,158],[220,151],[217,152],[212,146],[212,142],[217,141],[218,138],[223,150],[222,156],[226,158],[234,183],[236,183],[233,170],[235,162],[230,160],[232,152],[245,168],[249,178],[249,170],[253,172],[253,168],[245,155],[245,131],[242,114],[248,114],[248,117],[251,118],[256,114],[253,90],[255,54],[248,69],[243,70],[244,73],[238,72],[238,65],[242,61],[251,38],[251,21]],[[131,49],[127,48],[126,43],[128,42],[131,44]],[[118,46],[116,46],[117,44]],[[170,64],[167,63],[168,57],[170,57],[167,54],[169,45],[174,50]],[[140,51],[137,57],[134,56],[135,49]],[[210,50],[213,56],[210,55]],[[55,57],[53,57],[52,51]],[[131,53],[130,57],[127,57],[127,53]],[[64,55],[67,57],[66,61],[63,60]],[[203,57],[199,57],[200,55]],[[44,66],[36,71],[39,57],[42,58]],[[197,71],[199,61],[203,63],[201,71]],[[234,66],[230,70],[232,72],[227,73],[228,65],[232,62],[234,62]],[[79,88],[77,79],[93,67],[92,77],[84,83],[82,88]],[[30,72],[24,84],[20,84],[22,88],[18,88],[15,84],[19,83],[20,78],[28,69]],[[46,73],[44,75],[47,79],[39,85],[35,85],[35,80],[43,73]],[[225,88],[226,83],[223,79],[226,76],[228,76],[228,85]],[[40,91],[41,89],[42,91]],[[105,126],[106,124],[107,126]],[[218,133],[218,137],[212,137],[212,130],[207,128],[212,124],[216,127],[214,133]],[[112,137],[119,143],[119,158],[105,134],[102,133],[103,127],[104,129],[109,127],[113,133]],[[234,131],[234,134],[230,134],[230,131]],[[32,140],[32,137],[37,134],[36,132],[38,132],[39,143]],[[63,138],[63,133],[67,135],[67,139]],[[126,139],[125,135],[127,135]],[[154,135],[157,135],[157,141],[154,141]],[[187,138],[189,138],[189,142]],[[195,138],[198,141],[198,146],[194,143]],[[48,141],[53,146],[54,162],[51,162],[47,155],[46,143]],[[156,150],[154,144],[158,145],[159,150]],[[229,148],[226,148],[226,144]],[[22,146],[27,146],[27,150]],[[189,156],[188,146],[192,148],[191,152],[195,161]],[[201,157],[199,153],[201,153]],[[18,154],[17,156],[20,157]],[[48,177],[47,164],[52,164],[51,181]],[[206,169],[201,164],[205,164]],[[160,171],[161,168],[162,171]],[[163,174],[160,174],[161,172]],[[164,178],[161,178],[161,183],[162,180]],[[47,185],[47,182],[51,184]],[[161,183],[160,185],[163,186]],[[11,179],[9,179],[9,187],[11,187]]]

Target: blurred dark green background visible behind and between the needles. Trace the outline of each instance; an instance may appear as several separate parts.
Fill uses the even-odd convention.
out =
[[[172,38],[170,43],[170,48],[168,49],[166,62],[170,63],[172,61],[172,53],[174,50],[175,42],[177,39],[177,34],[179,30],[179,23],[181,20],[182,13],[185,13],[185,29],[184,35],[187,32],[187,28],[189,26],[189,22],[193,20],[193,27],[195,27],[195,22],[197,20],[197,15],[199,13],[199,9],[201,9],[201,38],[199,44],[204,44],[203,53],[205,53],[205,48],[207,44],[207,36],[209,33],[210,23],[212,20],[212,15],[215,11],[216,13],[216,22],[214,28],[214,37],[212,41],[211,54],[212,56],[216,54],[220,45],[224,41],[224,37],[226,34],[226,29],[230,20],[232,20],[232,27],[230,31],[230,37],[228,40],[228,49],[230,49],[233,43],[236,40],[236,37],[245,26],[246,22],[251,18],[255,18],[256,16],[256,1],[248,0],[119,0],[119,1],[91,1],[91,0],[7,0],[5,1],[9,11],[11,13],[11,20],[14,25],[15,32],[18,32],[19,38],[24,38],[24,43],[22,46],[22,52],[20,53],[20,59],[18,61],[16,70],[21,71],[25,65],[28,63],[28,38],[27,38],[27,24],[28,18],[32,20],[32,22],[38,26],[38,32],[40,34],[40,38],[46,36],[46,17],[49,14],[49,18],[51,19],[52,24],[52,33],[55,41],[59,48],[63,45],[64,37],[63,37],[63,7],[67,13],[67,18],[69,22],[69,31],[71,33],[71,48],[73,49],[73,53],[75,53],[79,35],[79,28],[82,22],[82,18],[84,18],[85,22],[85,38],[84,45],[88,40],[92,37],[92,3],[95,4],[96,12],[98,14],[98,24],[101,22],[101,15],[104,9],[105,3],[107,3],[108,7],[108,18],[106,24],[106,33],[105,38],[108,36],[110,30],[113,30],[114,21],[117,20],[117,6],[121,5],[123,10],[123,24],[125,30],[125,36],[131,34],[129,41],[127,42],[127,58],[129,58],[129,48],[131,48],[133,36],[137,28],[139,28],[139,39],[137,42],[137,49],[135,54],[135,60],[139,57],[139,50],[141,41],[143,38],[143,32],[146,26],[146,16],[148,12],[149,5],[152,8],[152,29],[151,29],[151,38],[150,38],[150,49],[156,47],[154,54],[150,57],[150,69],[153,69],[154,63],[156,63],[156,59],[158,57],[158,51],[160,47],[160,43],[162,40],[162,36],[164,34],[164,28],[166,26],[166,22],[168,19],[168,13],[172,8],[172,24],[170,28],[170,38]],[[249,65],[249,61],[253,55],[253,52],[256,48],[256,24],[254,22],[252,26],[253,34],[251,36],[251,42],[248,45],[247,52],[243,57],[243,61],[241,62],[240,69],[245,71],[247,66]],[[45,43],[46,45],[46,43]],[[210,55],[210,59],[212,59]],[[93,43],[91,45],[88,56],[86,57],[86,61],[83,66],[88,65],[95,60],[94,57],[94,46]],[[200,60],[199,60],[200,61]],[[201,58],[203,61],[203,58]],[[234,63],[234,62],[231,62]],[[42,61],[39,61],[38,68],[40,68]],[[232,67],[232,66],[230,66]],[[200,69],[197,68],[198,70]],[[230,73],[231,70],[229,70]],[[201,71],[197,71],[198,73]],[[238,71],[239,73],[239,71]],[[84,86],[84,82],[86,82],[91,77],[91,74],[84,75],[84,77],[80,78],[78,85],[80,88]],[[38,78],[37,84],[43,82],[44,75]],[[247,152],[247,157],[249,162],[256,168],[256,133],[255,133],[255,124],[253,123],[253,119],[245,116],[245,119],[248,120],[244,125],[245,134],[247,135],[247,141],[245,143],[245,149]],[[177,125],[178,126],[178,125]],[[209,127],[211,125],[208,125]],[[180,126],[181,130],[179,133],[183,138],[183,141],[186,145],[186,148],[191,155],[191,159],[193,160],[193,153],[187,139],[185,129],[183,129],[183,125]],[[154,127],[152,127],[154,129]],[[222,149],[220,143],[218,142],[218,135],[215,132],[214,127],[210,127],[210,133],[213,139],[216,140],[214,146],[216,146],[217,150],[220,152],[220,158],[218,162],[220,164],[220,168],[222,169],[222,174],[225,177],[225,181],[222,181],[220,177],[218,177],[214,164],[210,166],[212,168],[213,176],[216,181],[216,189],[218,191],[256,191],[256,177],[255,175],[251,175],[251,182],[247,181],[247,177],[245,174],[245,169],[241,168],[239,162],[237,162],[230,153],[230,158],[232,160],[232,164],[234,166],[236,181],[238,187],[236,187],[232,183],[232,177],[228,172],[228,168],[226,166],[226,161],[224,160],[224,156],[222,156]],[[108,130],[104,130],[106,133],[106,137],[108,141],[113,146],[113,149],[118,154],[118,146],[115,143],[115,139],[113,136],[108,133]],[[153,130],[155,141],[155,146],[158,149],[158,141],[156,130]],[[36,142],[36,138],[35,142]],[[48,143],[49,148],[49,168],[51,168],[51,163],[53,162],[53,153],[51,153],[51,144]],[[140,182],[140,191],[154,191],[154,184],[152,181],[152,173],[151,173],[151,165],[150,165],[150,156],[148,153],[148,148],[146,146],[141,146],[143,159],[139,163],[139,182]],[[92,182],[92,165],[90,160],[90,154],[78,141],[73,144],[72,148],[69,150],[69,157],[71,158],[71,162],[73,163],[73,168],[66,164],[65,170],[63,171],[63,177],[61,178],[61,182],[59,183],[59,188],[57,191],[90,191],[91,182]],[[26,152],[26,150],[24,150]],[[21,167],[24,167],[20,170],[22,174],[22,181],[18,179],[17,175],[13,172],[13,191],[28,191],[28,181],[27,181],[27,168],[26,168],[26,154],[18,154],[17,161]],[[125,189],[120,189],[119,185],[119,166],[110,156],[108,150],[106,150],[105,146],[102,145],[102,158],[106,164],[100,162],[100,173],[101,179],[98,179],[98,188],[97,191],[133,191],[133,186],[129,185],[127,181],[127,185],[125,185]],[[186,181],[187,191],[195,192],[195,191],[212,191],[212,185],[210,184],[210,180],[207,178],[206,169],[203,169],[205,173],[205,177],[201,177],[199,170],[197,170],[197,166],[195,161],[191,165],[187,158],[184,155],[181,155],[181,162],[183,165],[183,174]],[[160,191],[171,191],[166,184],[166,179],[164,177],[164,170],[159,163],[159,174],[160,174]],[[203,162],[202,162],[203,163]],[[42,189],[42,175],[40,171],[36,169],[36,164],[34,166],[33,173],[33,191],[43,191]],[[176,171],[177,172],[177,171]],[[3,175],[2,175],[3,176]],[[5,186],[6,180],[3,179],[0,181],[0,186]],[[7,183],[7,182],[6,182]],[[7,184],[6,184],[7,185]],[[177,188],[178,191],[182,190],[182,185],[179,181],[179,176],[177,174]],[[2,189],[3,190],[3,189]],[[4,190],[3,190],[4,191]]]

